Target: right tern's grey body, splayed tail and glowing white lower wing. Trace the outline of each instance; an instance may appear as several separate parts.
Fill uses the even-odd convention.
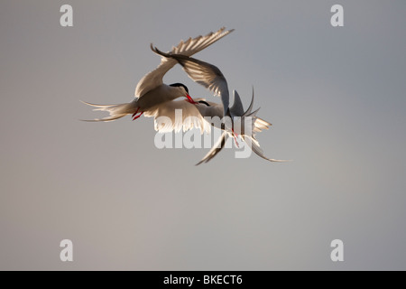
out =
[[[240,136],[248,144],[253,152],[263,159],[270,162],[289,162],[286,160],[276,160],[266,157],[263,154],[263,150],[260,144],[255,138],[255,134],[263,131],[263,129],[268,129],[272,126],[269,122],[263,120],[260,117],[256,117],[258,109],[253,112],[254,106],[254,88],[253,97],[251,99],[250,106],[244,111],[241,98],[237,91],[233,91],[234,94],[234,104],[229,107],[229,112],[234,117],[241,117],[241,129]],[[222,104],[217,104],[211,101],[207,101],[205,98],[195,98],[193,101],[189,99],[180,101],[170,101],[156,107],[153,107],[145,117],[154,117],[155,130],[160,133],[167,133],[171,131],[179,132],[180,130],[187,131],[191,128],[200,129],[201,134],[204,132],[209,133],[211,126],[216,126],[223,130],[222,135],[217,140],[217,143],[213,145],[208,154],[206,154],[203,159],[198,162],[208,163],[212,158],[214,158],[225,146],[226,140],[229,136],[235,136],[234,132],[230,132],[223,124],[218,126],[218,123],[209,122],[210,117],[219,117],[220,119],[224,117],[224,109]],[[181,109],[182,119],[176,119],[176,110]],[[160,121],[160,117],[168,117],[170,121]],[[245,119],[250,121],[245,122]],[[245,127],[248,124],[251,127]]]

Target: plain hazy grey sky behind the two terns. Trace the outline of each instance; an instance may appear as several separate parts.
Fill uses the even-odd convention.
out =
[[[73,6],[73,27],[60,6]],[[344,27],[330,24],[344,6]],[[0,269],[406,269],[406,2],[1,1]],[[235,32],[195,56],[245,106],[264,153],[155,148],[131,101],[163,51]],[[219,102],[180,69],[192,97]],[[74,261],[60,261],[60,240]],[[342,263],[330,242],[344,241]]]

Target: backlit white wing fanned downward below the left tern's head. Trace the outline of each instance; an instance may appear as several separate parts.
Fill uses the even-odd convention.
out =
[[[155,130],[160,133],[171,131],[184,132],[192,129],[200,129],[200,133],[210,133],[210,124],[200,115],[198,108],[186,100],[168,101],[152,107],[144,113],[145,117],[154,117]]]

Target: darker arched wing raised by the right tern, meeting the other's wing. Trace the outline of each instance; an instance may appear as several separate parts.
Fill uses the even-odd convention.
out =
[[[183,70],[188,73],[190,79],[209,89],[215,95],[220,96],[224,107],[224,115],[226,116],[229,105],[228,85],[223,73],[216,66],[189,56],[164,53],[156,47],[151,47],[151,49],[163,57],[178,61]]]

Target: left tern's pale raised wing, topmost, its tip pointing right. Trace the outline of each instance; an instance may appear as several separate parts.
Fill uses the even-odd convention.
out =
[[[191,56],[234,31],[234,29],[228,31],[225,31],[225,29],[226,28],[223,27],[218,30],[217,33],[208,33],[206,36],[198,36],[193,39],[189,38],[186,42],[181,41],[178,46],[172,48],[171,53]],[[138,82],[135,89],[135,98],[141,98],[148,91],[160,86],[163,83],[162,78],[165,73],[171,70],[176,63],[175,60],[162,57],[161,64],[155,70],[147,73],[143,79]]]

